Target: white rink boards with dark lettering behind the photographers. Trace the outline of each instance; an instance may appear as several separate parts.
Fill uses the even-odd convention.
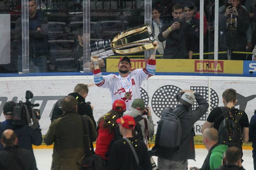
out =
[[[32,103],[39,103],[41,111],[40,126],[44,135],[50,125],[50,112],[53,104],[73,89],[78,83],[89,85],[86,101],[94,105],[94,118],[97,121],[111,109],[111,95],[108,89],[97,87],[93,76],[34,76],[34,77],[2,77],[0,80],[0,121],[4,121],[2,114],[6,101],[25,101],[25,92],[30,90],[34,97]],[[141,85],[142,99],[152,108],[152,118],[157,129],[157,121],[165,107],[174,107],[177,104],[175,94],[179,90],[192,89],[201,93],[209,102],[210,107],[204,116],[196,122],[195,131],[200,135],[200,129],[208,116],[208,112],[217,106],[223,106],[222,92],[225,89],[236,89],[237,108],[245,110],[249,120],[254,113],[256,102],[256,80],[249,77],[222,77],[222,76],[160,76],[156,75],[144,81]],[[196,102],[195,102],[196,107]],[[193,108],[195,108],[193,107]]]

